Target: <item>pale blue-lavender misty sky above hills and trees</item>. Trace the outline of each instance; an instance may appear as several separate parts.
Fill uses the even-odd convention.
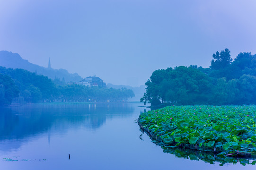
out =
[[[0,51],[115,85],[256,53],[256,0],[0,0]]]

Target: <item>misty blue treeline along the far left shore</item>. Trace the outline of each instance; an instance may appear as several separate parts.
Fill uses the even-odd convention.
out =
[[[47,76],[25,69],[0,67],[0,105],[12,102],[124,102],[133,97],[131,89],[57,84]]]

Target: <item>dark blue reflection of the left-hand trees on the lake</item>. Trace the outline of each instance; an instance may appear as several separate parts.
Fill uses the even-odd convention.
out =
[[[100,128],[106,119],[131,116],[134,107],[130,103],[38,104],[2,107],[0,108],[0,142],[9,143],[13,139],[22,142],[23,139],[27,140],[27,136],[50,133],[49,129],[52,127],[54,127],[54,133],[63,133],[69,128],[81,126],[95,130]]]

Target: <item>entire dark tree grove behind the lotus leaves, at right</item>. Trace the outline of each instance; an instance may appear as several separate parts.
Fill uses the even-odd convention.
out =
[[[212,55],[211,66],[159,69],[145,83],[141,102],[157,105],[256,104],[256,54],[229,49]]]

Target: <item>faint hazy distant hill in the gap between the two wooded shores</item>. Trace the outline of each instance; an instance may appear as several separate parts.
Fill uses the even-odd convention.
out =
[[[114,88],[114,89],[121,89],[121,88],[127,88],[132,89],[133,93],[135,94],[134,97],[132,97],[131,101],[133,102],[139,102],[141,100],[141,97],[143,97],[144,93],[146,93],[146,86],[141,85],[139,87],[132,87],[130,85],[113,85],[108,83],[106,85],[107,88]]]

